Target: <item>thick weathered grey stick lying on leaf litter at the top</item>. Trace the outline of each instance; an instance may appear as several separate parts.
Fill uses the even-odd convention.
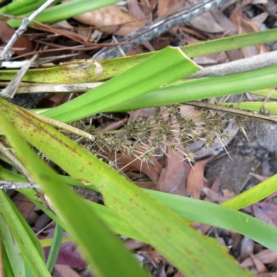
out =
[[[229,0],[198,0],[195,3],[184,6],[177,12],[171,15],[161,17],[157,20],[152,21],[143,28],[137,30],[136,32],[125,36],[120,42],[130,42],[127,45],[121,46],[123,52],[127,52],[132,48],[141,44],[141,42],[148,41],[153,37],[157,37],[162,33],[166,33],[171,28],[194,19],[195,17],[202,15],[204,12],[219,8],[222,4],[229,2]],[[93,59],[104,60],[113,57],[120,56],[120,51],[118,51],[117,46],[105,47],[93,55]]]

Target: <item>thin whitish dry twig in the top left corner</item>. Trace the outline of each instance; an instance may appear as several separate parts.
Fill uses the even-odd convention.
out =
[[[21,26],[15,31],[14,35],[12,35],[12,38],[6,45],[6,47],[3,49],[3,51],[0,54],[0,60],[7,60],[10,56],[8,55],[8,51],[10,51],[10,48],[12,48],[12,45],[15,44],[17,39],[27,30],[28,24],[30,24],[37,15],[39,15],[40,12],[45,10],[51,3],[53,3],[55,0],[47,0],[42,6],[40,6],[35,12],[30,15],[28,18],[24,18],[22,20]]]

